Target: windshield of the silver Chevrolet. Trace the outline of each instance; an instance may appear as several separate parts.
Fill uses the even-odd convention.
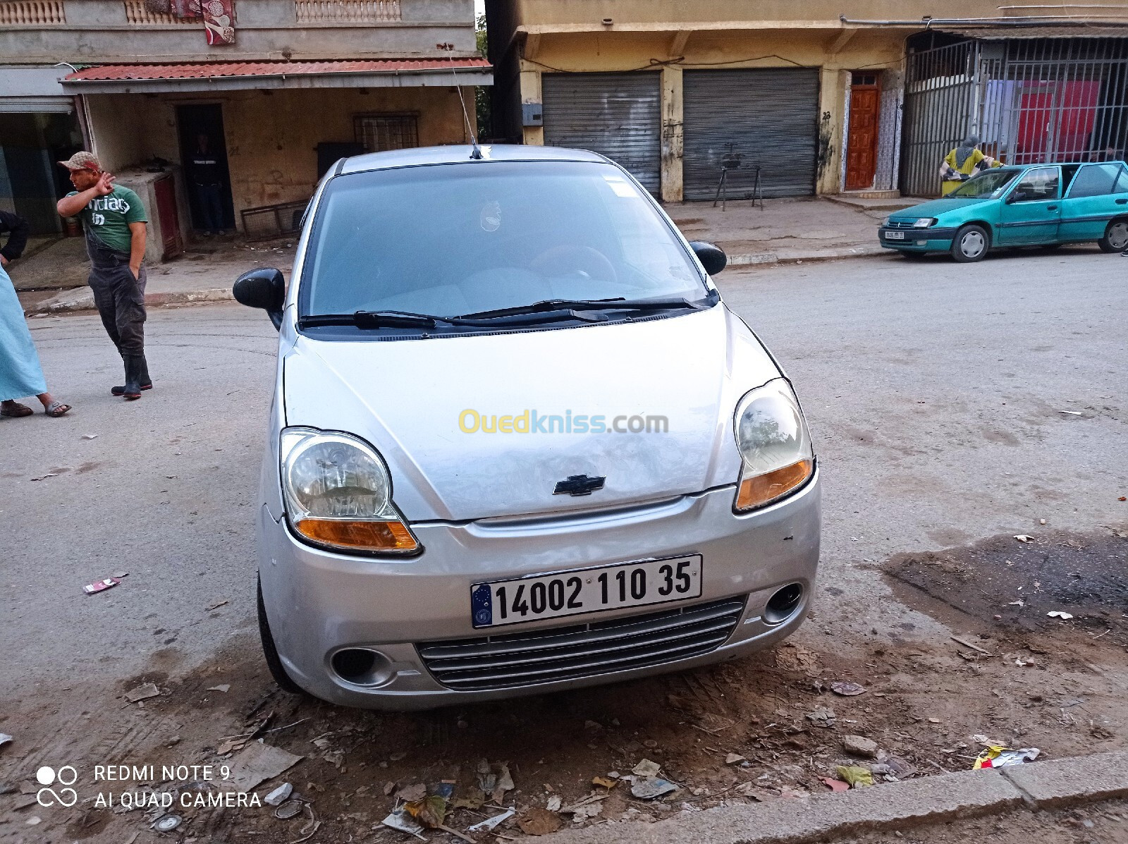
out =
[[[467,162],[373,170],[325,190],[302,316],[460,316],[552,299],[707,294],[647,196],[597,162]]]

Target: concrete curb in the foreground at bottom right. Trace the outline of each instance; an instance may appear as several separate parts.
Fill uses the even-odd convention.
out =
[[[1128,797],[1128,750],[961,771],[795,800],[685,812],[655,824],[623,821],[570,829],[553,844],[813,844],[1028,806],[1057,809]]]

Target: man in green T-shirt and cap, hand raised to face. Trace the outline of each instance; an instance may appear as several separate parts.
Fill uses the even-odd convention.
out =
[[[125,363],[125,384],[111,393],[129,401],[152,388],[144,358],[146,216],[140,197],[114,184],[91,152],[76,152],[60,161],[70,170],[74,190],[59,200],[63,217],[81,216],[90,256],[94,304],[102,324]]]

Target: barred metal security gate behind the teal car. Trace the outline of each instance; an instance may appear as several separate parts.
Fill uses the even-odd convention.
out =
[[[1128,38],[964,41],[909,53],[901,191],[940,193],[940,162],[968,133],[1005,164],[1122,159]]]

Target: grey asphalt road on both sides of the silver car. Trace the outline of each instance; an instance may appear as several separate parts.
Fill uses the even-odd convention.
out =
[[[1128,520],[1126,274],[1128,261],[1076,249],[720,276],[794,379],[822,461],[814,625],[848,644],[910,615],[870,565],[890,554],[1036,534],[1039,519]],[[187,670],[253,630],[276,335],[235,305],[153,310],[156,389],[124,403],[97,317],[32,327],[74,411],[0,421],[0,712],[50,721],[70,715],[36,701],[105,693],[155,660]],[[82,594],[120,571],[116,589]]]

